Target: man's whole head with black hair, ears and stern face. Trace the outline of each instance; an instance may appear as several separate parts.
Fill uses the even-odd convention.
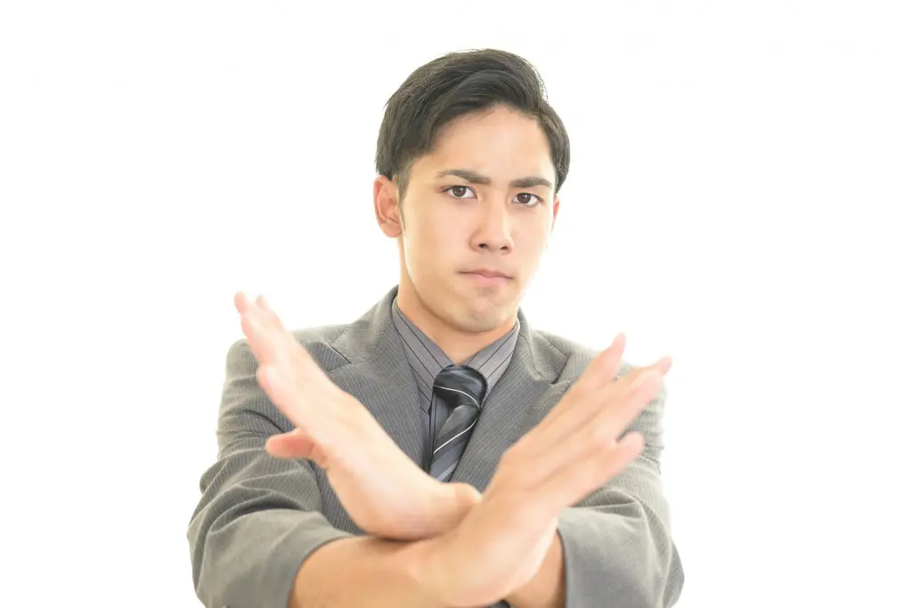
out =
[[[389,99],[374,183],[380,227],[399,242],[400,305],[460,332],[509,329],[569,157],[564,125],[523,58],[453,53],[412,72]]]

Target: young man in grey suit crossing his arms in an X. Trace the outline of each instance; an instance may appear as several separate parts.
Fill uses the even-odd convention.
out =
[[[565,129],[533,67],[440,57],[389,99],[374,207],[399,284],[289,333],[235,298],[188,537],[207,606],[669,606],[663,376],[520,309],[557,217]]]

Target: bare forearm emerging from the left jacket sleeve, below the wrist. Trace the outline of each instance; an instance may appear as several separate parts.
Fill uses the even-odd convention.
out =
[[[445,608],[413,574],[411,546],[364,536],[326,543],[298,570],[288,608]]]

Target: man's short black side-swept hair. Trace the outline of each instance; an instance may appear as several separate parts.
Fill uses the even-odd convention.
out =
[[[544,130],[557,175],[554,191],[559,191],[570,169],[564,123],[547,101],[538,70],[523,57],[494,48],[448,53],[405,79],[389,98],[380,124],[378,174],[390,180],[397,176],[404,197],[411,164],[430,152],[440,128],[500,104],[535,119]]]

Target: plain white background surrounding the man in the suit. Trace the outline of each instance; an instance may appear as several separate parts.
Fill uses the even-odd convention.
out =
[[[2,603],[199,605],[234,291],[385,294],[383,105],[497,46],[573,149],[526,314],[675,359],[679,606],[908,605],[907,3],[324,4],[0,8]]]

